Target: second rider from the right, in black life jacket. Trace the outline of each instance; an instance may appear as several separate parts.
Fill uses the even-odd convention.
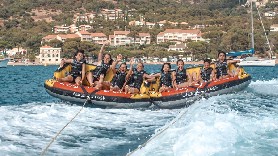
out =
[[[204,60],[204,67],[201,69],[199,74],[200,82],[208,82],[214,80],[214,69],[210,67],[211,60],[205,59]]]

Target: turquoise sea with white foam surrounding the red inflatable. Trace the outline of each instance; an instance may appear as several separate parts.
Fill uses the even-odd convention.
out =
[[[0,155],[41,154],[80,110],[45,92],[43,82],[56,68],[0,69]],[[145,68],[155,72],[160,65]],[[201,99],[188,108],[85,107],[46,155],[126,155],[169,124],[134,155],[277,155],[278,66],[245,69],[253,78],[245,90]]]

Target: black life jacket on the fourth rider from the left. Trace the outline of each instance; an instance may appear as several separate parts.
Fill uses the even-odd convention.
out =
[[[137,69],[133,69],[133,73],[128,81],[129,86],[140,89],[144,80],[143,75],[145,73],[144,70],[137,71]]]

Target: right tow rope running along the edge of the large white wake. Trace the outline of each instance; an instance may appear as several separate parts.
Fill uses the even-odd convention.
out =
[[[151,142],[153,139],[161,135],[163,132],[165,132],[168,128],[170,128],[172,125],[174,125],[178,120],[181,119],[181,117],[187,112],[188,110],[186,107],[184,108],[183,112],[180,112],[179,116],[177,116],[175,119],[173,119],[164,129],[160,129],[158,133],[153,135],[149,140],[147,140],[144,144],[138,146],[135,150],[131,151],[130,153],[127,153],[127,156],[131,156],[136,151],[140,150],[141,148],[145,147],[149,142]]]

